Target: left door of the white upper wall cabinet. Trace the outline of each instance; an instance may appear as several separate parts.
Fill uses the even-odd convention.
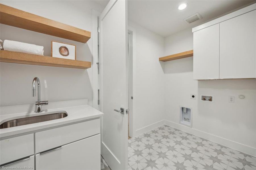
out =
[[[194,32],[194,80],[219,78],[219,24]]]

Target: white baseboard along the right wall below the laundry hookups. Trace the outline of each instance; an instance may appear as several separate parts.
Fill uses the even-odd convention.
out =
[[[202,137],[209,141],[213,141],[214,143],[218,143],[220,145],[227,146],[229,148],[238,150],[240,152],[244,152],[246,154],[256,156],[256,148],[253,148],[251,146],[243,145],[242,143],[231,141],[231,140],[225,139],[223,137],[219,137],[219,136],[216,136],[216,135],[213,135],[210,133],[206,133],[204,131],[200,131],[197,129],[190,128],[188,126],[184,126],[182,124],[171,122],[169,120],[163,120],[161,122],[163,122],[163,124],[171,126],[172,128],[176,128],[176,129],[182,130],[184,132],[191,133],[192,135]]]

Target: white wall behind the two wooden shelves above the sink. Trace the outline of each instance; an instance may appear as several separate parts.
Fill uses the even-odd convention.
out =
[[[93,1],[1,1],[2,4],[18,8],[64,24],[92,32],[92,8],[103,7]],[[77,59],[92,61],[92,38],[80,43],[45,35],[25,29],[1,24],[1,40],[9,39],[44,46],[44,55],[51,56],[51,41],[75,44]],[[93,35],[92,35],[93,36]],[[32,80],[41,81],[41,100],[63,101],[89,100],[92,105],[92,68],[70,69],[14,63],[0,63],[1,106],[34,103]]]

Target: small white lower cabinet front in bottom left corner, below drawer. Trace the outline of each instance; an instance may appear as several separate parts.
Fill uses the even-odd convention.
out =
[[[9,162],[0,167],[0,169],[35,169],[34,155],[22,158],[13,162]],[[26,167],[26,168],[25,168]]]

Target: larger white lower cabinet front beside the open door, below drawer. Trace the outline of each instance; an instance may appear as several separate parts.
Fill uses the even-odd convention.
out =
[[[36,154],[37,170],[99,170],[100,134]]]

